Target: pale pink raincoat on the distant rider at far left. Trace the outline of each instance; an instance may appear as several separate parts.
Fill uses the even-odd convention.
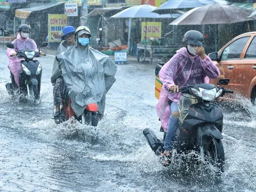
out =
[[[26,39],[23,39],[20,36],[20,33],[17,35],[17,39],[15,39],[12,44],[18,49],[18,50],[25,50],[25,49],[33,49],[35,51],[37,50],[36,43],[33,39],[30,39],[27,37]],[[18,57],[10,59],[10,55],[13,53],[17,53],[17,49],[10,49],[7,48],[6,55],[9,58],[9,69],[11,70],[12,74],[14,75],[14,80],[17,83],[18,87],[20,87],[19,84],[19,74],[21,72],[21,67],[20,67],[20,61],[23,59],[19,59]]]

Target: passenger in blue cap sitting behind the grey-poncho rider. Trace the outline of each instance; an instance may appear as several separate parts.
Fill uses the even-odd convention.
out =
[[[61,40],[63,41],[56,52],[56,55],[62,53],[63,51],[67,50],[68,46],[75,45],[75,28],[73,26],[66,26],[63,27],[62,33],[63,36],[61,37]],[[63,78],[61,76],[61,70],[59,67],[58,61],[55,59],[53,63],[53,69],[52,69],[52,76],[51,76],[51,82],[53,84],[53,100],[54,100],[54,106],[55,106],[55,114],[54,118],[60,117],[60,104],[61,104],[61,92],[63,90]]]

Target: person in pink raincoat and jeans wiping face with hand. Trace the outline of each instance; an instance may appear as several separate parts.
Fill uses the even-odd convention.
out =
[[[166,111],[165,114],[161,113],[163,107],[169,111],[171,110],[164,140],[164,151],[160,157],[160,162],[164,166],[169,165],[175,131],[178,127],[178,118],[180,115],[178,102],[181,97],[179,87],[209,83],[209,78],[217,78],[220,75],[218,67],[205,55],[203,47],[204,37],[199,31],[187,31],[182,41],[185,43],[185,47],[178,50],[170,61],[159,71],[159,78],[163,83],[163,87],[156,108],[162,126],[162,120],[168,119],[164,117],[167,114]],[[171,101],[170,108],[168,101]]]

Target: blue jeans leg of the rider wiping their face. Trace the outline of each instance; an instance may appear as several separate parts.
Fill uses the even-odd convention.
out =
[[[174,111],[179,111],[177,102],[171,103],[171,113],[173,114]],[[173,141],[174,141],[174,138],[176,135],[175,133],[176,133],[178,123],[179,123],[179,118],[174,117],[172,114],[170,116],[170,121],[169,121],[169,124],[167,127],[167,132],[166,132],[166,137],[164,139],[164,149],[166,149],[166,150],[171,150],[173,147]]]

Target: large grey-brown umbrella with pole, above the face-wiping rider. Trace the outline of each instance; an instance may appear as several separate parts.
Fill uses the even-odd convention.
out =
[[[175,19],[170,25],[211,25],[230,24],[235,22],[253,20],[253,17],[246,18],[250,10],[239,8],[233,5],[211,4],[196,7]],[[217,29],[215,28],[215,37]],[[217,38],[215,38],[215,51],[217,52]]]

